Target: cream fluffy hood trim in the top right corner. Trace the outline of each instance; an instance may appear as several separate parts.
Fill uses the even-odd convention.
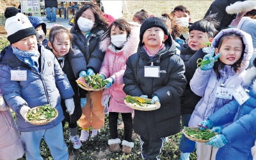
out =
[[[256,0],[237,1],[226,7],[228,14],[234,14],[239,12],[249,12],[256,9]]]

